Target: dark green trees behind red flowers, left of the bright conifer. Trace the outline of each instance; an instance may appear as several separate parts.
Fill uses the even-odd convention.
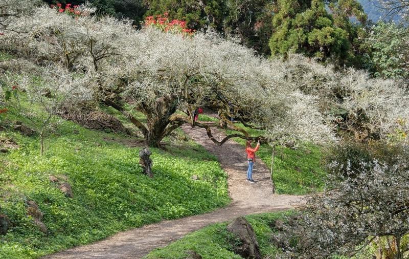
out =
[[[146,15],[168,13],[171,19],[185,19],[189,28],[208,27],[238,37],[243,45],[268,56],[272,32],[270,0],[169,1],[150,0]]]

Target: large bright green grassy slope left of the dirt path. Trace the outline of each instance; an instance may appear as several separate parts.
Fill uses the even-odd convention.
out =
[[[13,111],[4,119],[24,121]],[[46,152],[39,156],[38,136],[0,132],[0,139],[13,138],[20,146],[0,153],[0,214],[13,224],[0,235],[0,258],[35,258],[228,204],[226,174],[216,158],[192,141],[179,140],[180,135],[165,140],[167,152],[152,148],[150,179],[138,165],[140,148],[128,146],[138,142],[126,136],[65,121],[46,139]],[[74,198],[65,197],[50,175],[66,176]],[[27,216],[28,201],[38,204],[48,234]]]

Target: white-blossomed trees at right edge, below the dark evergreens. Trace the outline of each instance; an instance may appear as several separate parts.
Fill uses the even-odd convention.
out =
[[[285,62],[288,80],[317,97],[321,113],[357,140],[409,130],[409,95],[403,82],[371,78],[367,72],[334,71],[302,56]]]

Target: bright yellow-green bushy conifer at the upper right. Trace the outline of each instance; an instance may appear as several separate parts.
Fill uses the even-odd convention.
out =
[[[309,57],[331,59],[348,64],[354,58],[359,26],[349,20],[355,17],[365,23],[366,15],[354,0],[331,3],[330,14],[322,0],[280,0],[274,7],[274,33],[269,46],[272,55],[303,53]],[[352,61],[353,62],[353,61]]]

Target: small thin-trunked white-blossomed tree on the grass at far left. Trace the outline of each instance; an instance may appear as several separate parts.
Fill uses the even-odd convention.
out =
[[[62,106],[92,99],[83,85],[82,78],[74,78],[64,68],[55,66],[44,67],[36,75],[7,73],[0,81],[7,107],[26,118],[39,135],[40,154],[44,151],[44,138],[61,122],[57,113]]]

